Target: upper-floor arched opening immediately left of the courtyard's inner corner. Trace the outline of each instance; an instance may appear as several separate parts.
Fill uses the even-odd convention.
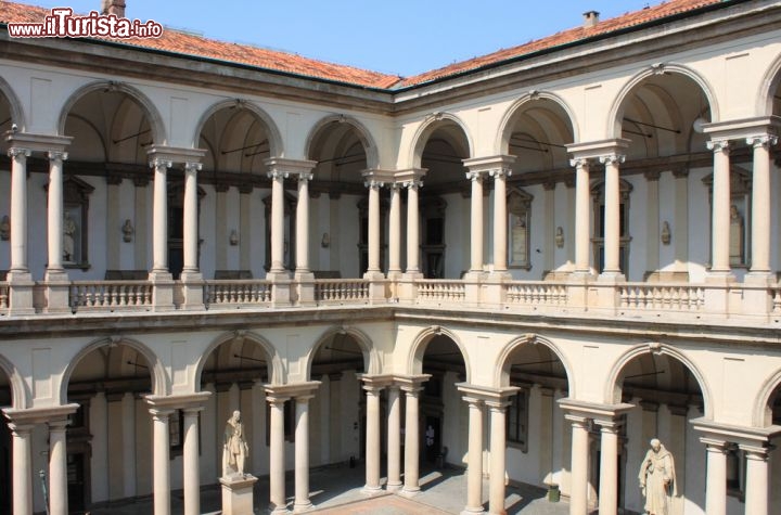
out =
[[[310,209],[320,209],[327,218],[319,231],[312,231],[321,243],[321,250],[312,256],[313,270],[328,271],[331,276],[363,276],[369,268],[369,193],[361,172],[376,166],[376,158],[370,156],[372,150],[375,153],[376,146],[366,129],[346,117],[322,120],[309,138],[307,158],[318,163],[309,185],[315,196]],[[387,202],[384,195],[382,202]],[[383,270],[387,269],[385,207],[380,210]],[[358,223],[344,227],[343,220]]]

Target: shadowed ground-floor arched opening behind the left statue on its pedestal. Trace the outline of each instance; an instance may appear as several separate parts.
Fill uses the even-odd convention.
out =
[[[226,421],[241,411],[249,455],[245,471],[269,473],[269,416],[264,385],[272,377],[271,346],[239,332],[221,338],[204,358],[200,386],[210,391],[201,413],[201,468],[205,477],[222,475],[222,437]],[[287,424],[285,424],[287,435]]]

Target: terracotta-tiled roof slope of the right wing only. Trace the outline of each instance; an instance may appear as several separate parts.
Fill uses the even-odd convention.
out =
[[[408,77],[396,86],[398,88],[406,88],[409,86],[430,82],[432,80],[474,70],[483,66],[497,64],[502,61],[520,57],[522,55],[528,55],[540,50],[548,50],[587,38],[606,35],[616,30],[629,28],[636,25],[641,25],[668,16],[674,16],[679,13],[684,13],[714,3],[720,3],[722,1],[725,0],[670,0],[658,5],[645,8],[640,11],[635,11],[614,18],[599,22],[589,28],[571,28],[568,30],[556,33],[552,36],[530,41],[518,47],[498,50],[487,55],[471,59],[469,61],[462,61],[460,63],[453,63],[451,65],[444,66],[441,68],[431,72],[425,72],[413,77]]]

